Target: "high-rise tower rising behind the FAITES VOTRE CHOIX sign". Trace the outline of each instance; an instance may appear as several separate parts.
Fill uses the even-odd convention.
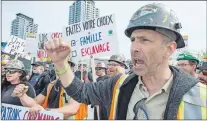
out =
[[[68,24],[70,25],[98,17],[99,9],[95,7],[93,0],[77,0],[69,7]]]

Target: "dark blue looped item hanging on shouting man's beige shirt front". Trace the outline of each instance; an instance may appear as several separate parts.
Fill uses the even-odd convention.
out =
[[[145,114],[145,117],[147,120],[149,120],[149,116],[147,114],[147,111],[143,108],[144,106],[144,102],[147,100],[147,98],[143,98],[141,100],[139,100],[135,105],[134,105],[134,108],[133,108],[133,112],[134,112],[134,118],[133,120],[138,120],[138,111],[139,109],[142,110]]]

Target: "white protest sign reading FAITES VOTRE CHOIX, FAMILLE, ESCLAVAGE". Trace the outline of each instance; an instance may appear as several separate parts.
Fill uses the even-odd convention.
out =
[[[114,14],[64,27],[63,38],[70,41],[76,63],[90,55],[104,57],[119,52]]]

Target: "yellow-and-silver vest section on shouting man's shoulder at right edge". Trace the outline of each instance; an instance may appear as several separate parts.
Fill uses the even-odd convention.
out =
[[[207,119],[207,88],[202,83],[196,84],[184,96],[180,103],[177,119]]]

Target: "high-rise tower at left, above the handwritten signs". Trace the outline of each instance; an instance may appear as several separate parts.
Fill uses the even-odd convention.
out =
[[[38,24],[34,24],[33,18],[22,13],[16,14],[16,18],[11,23],[11,35],[21,39],[26,39],[28,33],[36,34]]]

